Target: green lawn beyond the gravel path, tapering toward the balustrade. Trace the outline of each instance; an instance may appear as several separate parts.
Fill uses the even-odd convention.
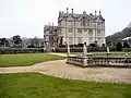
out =
[[[23,66],[39,62],[64,59],[64,57],[47,53],[0,54],[0,66]]]

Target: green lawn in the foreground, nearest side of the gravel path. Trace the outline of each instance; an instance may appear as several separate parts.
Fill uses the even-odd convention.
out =
[[[37,73],[0,74],[0,98],[131,98],[131,84],[70,81]]]

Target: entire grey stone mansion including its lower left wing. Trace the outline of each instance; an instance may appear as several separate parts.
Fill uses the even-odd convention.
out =
[[[105,19],[102,13],[87,14],[85,11],[78,14],[71,10],[69,13],[59,12],[58,26],[45,25],[44,27],[44,42],[45,47],[51,48],[66,42],[69,45],[97,44],[102,46],[105,44]]]

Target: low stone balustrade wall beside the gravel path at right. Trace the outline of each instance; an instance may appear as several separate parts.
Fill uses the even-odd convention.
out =
[[[120,66],[131,68],[131,57],[68,57],[67,63],[80,66]]]

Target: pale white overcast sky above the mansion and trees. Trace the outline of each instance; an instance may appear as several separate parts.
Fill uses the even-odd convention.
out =
[[[0,37],[41,37],[44,25],[57,25],[59,11],[74,13],[102,11],[106,36],[131,22],[131,0],[0,0]],[[98,13],[97,13],[98,14]]]

